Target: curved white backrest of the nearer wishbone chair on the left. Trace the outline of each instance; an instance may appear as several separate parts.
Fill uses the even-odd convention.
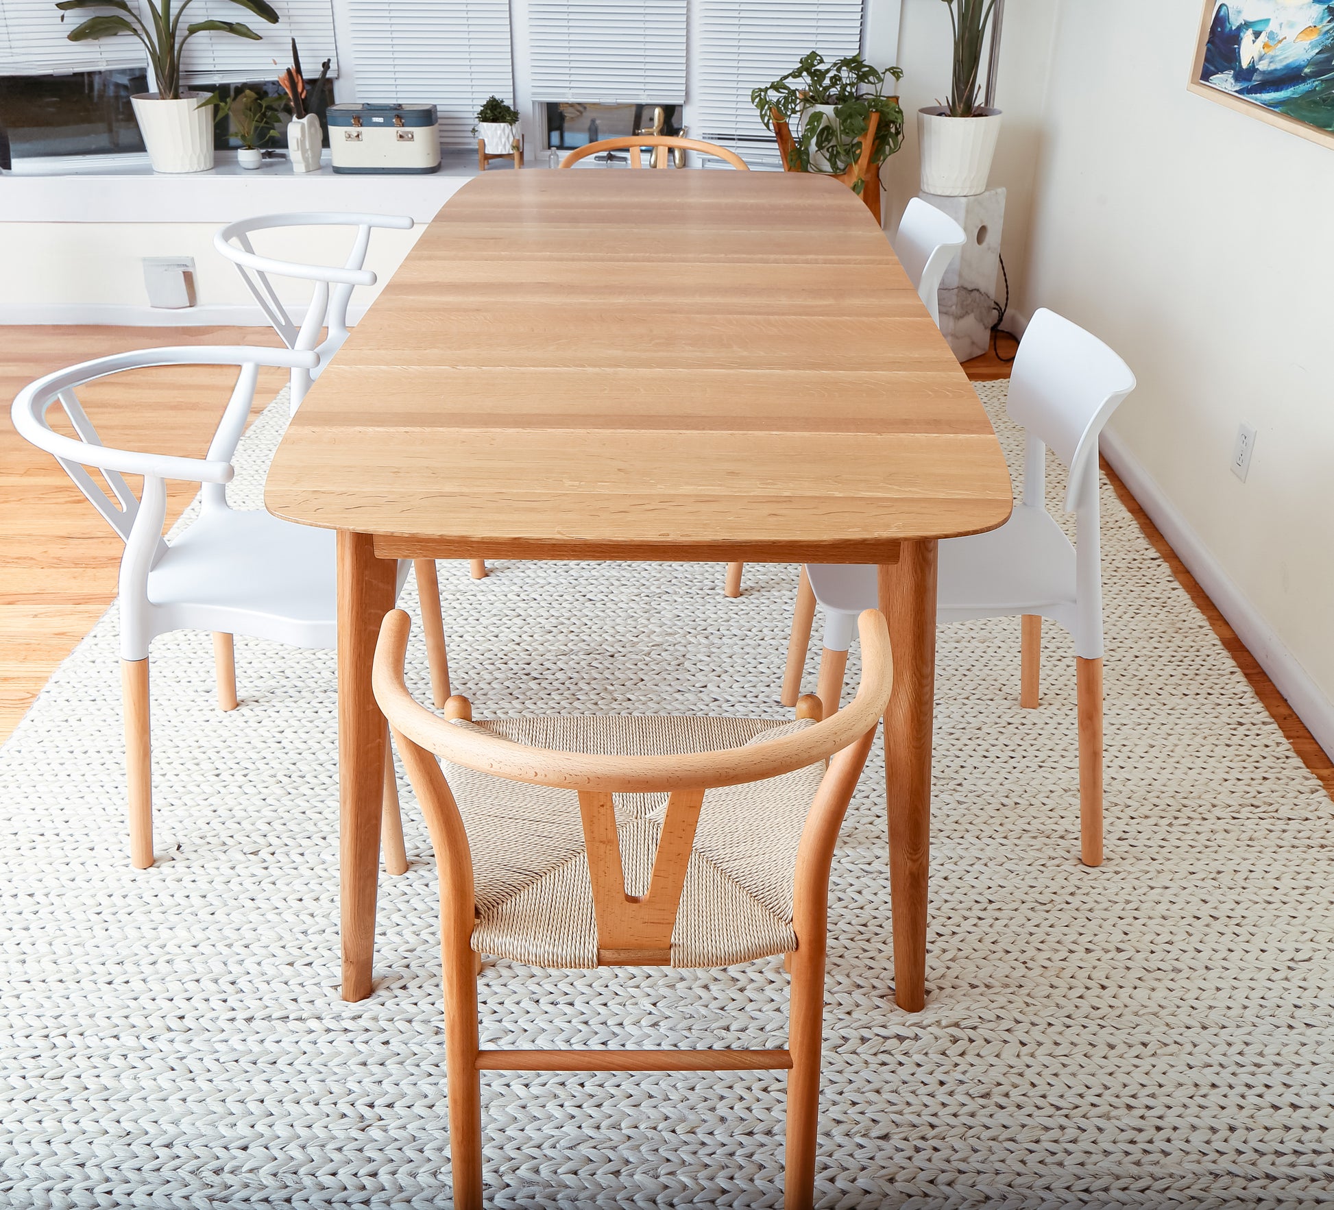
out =
[[[11,418],[20,436],[51,454],[93,508],[120,535],[125,543],[120,564],[120,591],[123,599],[136,600],[145,595],[148,572],[167,548],[163,540],[165,482],[184,479],[201,483],[203,507],[225,508],[225,484],[232,479],[231,459],[249,418],[259,367],[309,368],[315,360],[313,352],[289,352],[281,348],[196,346],[136,350],[81,362],[29,383],[15,399]],[[112,374],[152,366],[237,367],[236,386],[204,458],[117,450],[104,446],[97,436],[97,430],[79,402],[77,388]],[[75,430],[72,438],[56,432],[47,418],[57,403]],[[89,467],[101,472],[105,488],[88,474]],[[125,475],[143,476],[140,496],[136,498],[131,491]]]

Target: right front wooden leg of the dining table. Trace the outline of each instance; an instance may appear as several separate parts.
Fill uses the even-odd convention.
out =
[[[894,999],[926,1005],[926,904],[931,859],[931,726],[935,712],[935,542],[904,542],[882,564],[880,611],[890,627],[894,694],[884,715],[884,775],[894,911]]]

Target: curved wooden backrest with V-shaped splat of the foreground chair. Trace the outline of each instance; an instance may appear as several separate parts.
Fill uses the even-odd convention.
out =
[[[527,747],[482,728],[459,726],[419,706],[403,682],[408,615],[394,611],[384,619],[376,644],[375,698],[390,720],[427,814],[442,863],[442,884],[446,870],[451,870],[450,882],[456,891],[466,888],[471,913],[472,863],[467,832],[436,756],[507,780],[562,787],[578,794],[599,947],[608,951],[660,955],[670,950],[706,790],[760,782],[834,756],[812,800],[798,855],[800,866],[803,851],[819,850],[810,860],[816,866],[826,862],[827,879],[826,858],[832,852],[832,838],[856,786],[876,723],[888,704],[894,680],[883,615],[867,610],[859,627],[862,683],[852,703],[832,718],[727,751],[626,756]],[[456,700],[460,699],[451,699]],[[635,899],[626,890],[612,795],[663,791],[670,796],[648,892]]]

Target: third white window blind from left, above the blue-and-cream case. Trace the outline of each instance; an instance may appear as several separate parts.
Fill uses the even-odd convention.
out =
[[[434,104],[446,147],[475,147],[488,96],[514,100],[508,0],[351,0],[359,101]],[[303,59],[304,63],[304,59]]]

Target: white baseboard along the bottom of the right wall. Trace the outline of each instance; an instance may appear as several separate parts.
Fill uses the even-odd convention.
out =
[[[1126,443],[1111,430],[1103,430],[1102,455],[1121,476],[1131,495],[1162,531],[1169,546],[1177,552],[1199,587],[1218,607],[1237,636],[1269,674],[1278,691],[1287,699],[1297,716],[1306,723],[1315,742],[1334,756],[1334,702],[1295,659],[1291,651],[1261,616],[1250,599],[1223,571],[1213,552],[1186,523],[1177,506],[1167,499],[1158,482],[1143,468]]]

